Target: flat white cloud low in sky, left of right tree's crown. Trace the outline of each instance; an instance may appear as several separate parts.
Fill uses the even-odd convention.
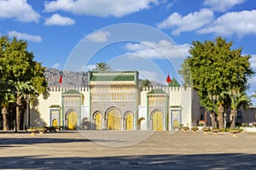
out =
[[[190,44],[184,43],[177,45],[166,40],[161,40],[159,42],[129,42],[125,45],[125,48],[129,50],[128,54],[135,54],[151,59],[171,59],[188,56]]]

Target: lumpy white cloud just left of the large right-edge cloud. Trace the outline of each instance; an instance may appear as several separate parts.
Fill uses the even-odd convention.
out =
[[[171,14],[166,20],[158,24],[160,29],[174,28],[172,35],[179,35],[183,31],[195,31],[206,26],[213,20],[213,12],[210,9],[202,8],[199,12],[182,16],[178,13]]]

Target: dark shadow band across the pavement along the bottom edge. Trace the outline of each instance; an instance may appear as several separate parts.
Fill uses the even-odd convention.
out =
[[[84,156],[88,156],[84,153]],[[255,154],[142,155],[102,157],[1,157],[0,168],[26,169],[255,169]]]

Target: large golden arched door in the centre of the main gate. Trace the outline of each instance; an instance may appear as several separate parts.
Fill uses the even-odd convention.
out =
[[[108,112],[108,129],[120,130],[120,113],[117,109],[112,109]]]

